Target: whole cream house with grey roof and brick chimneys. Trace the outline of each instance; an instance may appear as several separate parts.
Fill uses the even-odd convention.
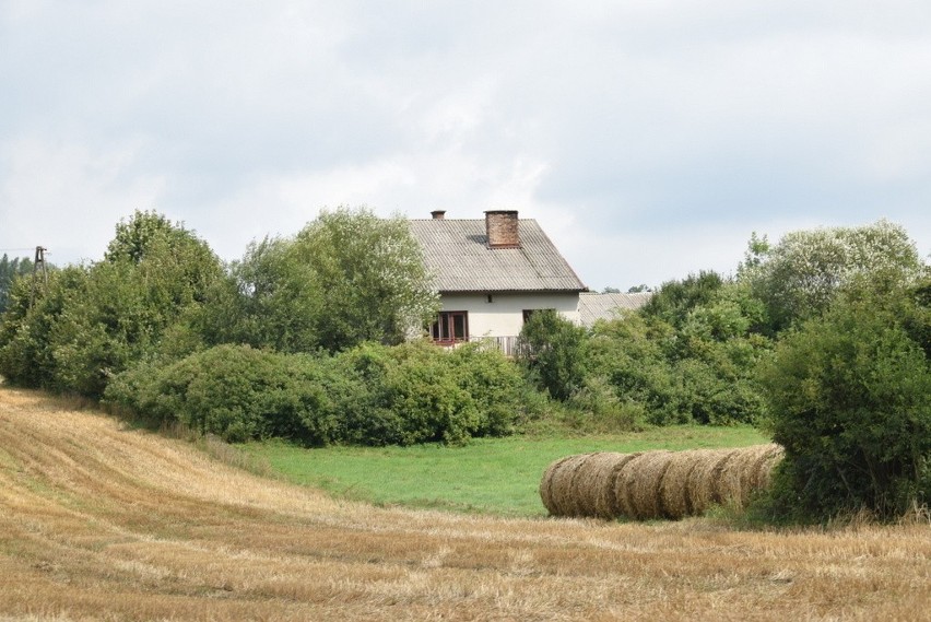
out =
[[[520,220],[510,210],[475,220],[445,214],[411,221],[443,304],[431,331],[434,341],[490,338],[511,354],[534,310],[555,309],[580,322],[579,293],[588,289],[537,221]]]

